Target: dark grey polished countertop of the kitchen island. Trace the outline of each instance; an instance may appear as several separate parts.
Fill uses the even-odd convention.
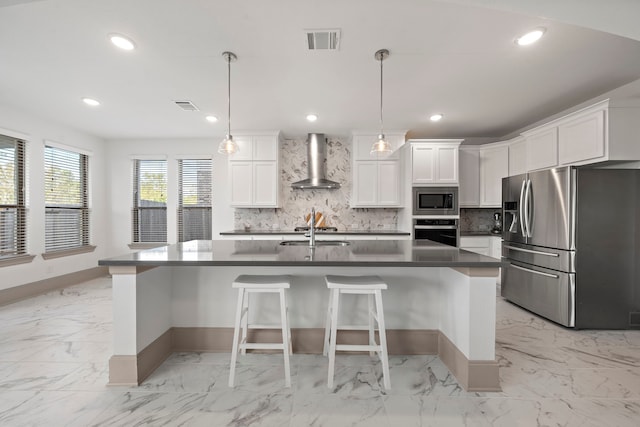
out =
[[[102,259],[106,266],[376,266],[498,268],[508,263],[429,240],[282,246],[276,240],[192,240]]]

